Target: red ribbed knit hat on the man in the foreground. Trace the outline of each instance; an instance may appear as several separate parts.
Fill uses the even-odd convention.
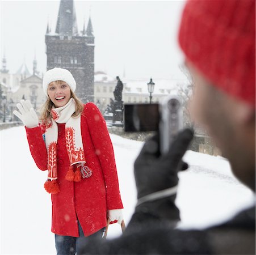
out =
[[[188,0],[179,44],[215,86],[255,107],[255,0]]]

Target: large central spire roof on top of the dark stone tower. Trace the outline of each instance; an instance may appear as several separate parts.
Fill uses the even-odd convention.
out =
[[[61,0],[55,32],[61,36],[72,36],[78,33],[73,0]]]

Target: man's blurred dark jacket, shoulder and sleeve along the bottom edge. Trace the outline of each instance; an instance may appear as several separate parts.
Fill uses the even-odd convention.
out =
[[[133,214],[116,239],[91,242],[78,254],[255,254],[255,207],[205,230],[174,230],[170,220]]]

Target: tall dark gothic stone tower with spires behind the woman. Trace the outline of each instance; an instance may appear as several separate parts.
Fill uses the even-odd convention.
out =
[[[94,35],[91,18],[85,30],[77,29],[73,0],[61,0],[55,33],[45,35],[47,70],[68,69],[77,82],[75,94],[86,103],[94,101]]]

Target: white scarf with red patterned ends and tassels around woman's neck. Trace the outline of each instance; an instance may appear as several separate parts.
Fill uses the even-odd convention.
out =
[[[66,180],[80,181],[82,177],[90,177],[91,170],[85,166],[85,154],[83,150],[81,134],[81,114],[72,117],[75,112],[75,101],[72,98],[63,107],[52,108],[52,122],[45,130],[45,145],[48,152],[48,181],[57,180],[57,140],[58,125],[65,123],[66,150],[69,156],[70,168]],[[73,166],[76,165],[74,173]],[[55,183],[55,182],[54,182]],[[47,189],[47,188],[45,188]],[[49,193],[51,190],[47,190]]]

